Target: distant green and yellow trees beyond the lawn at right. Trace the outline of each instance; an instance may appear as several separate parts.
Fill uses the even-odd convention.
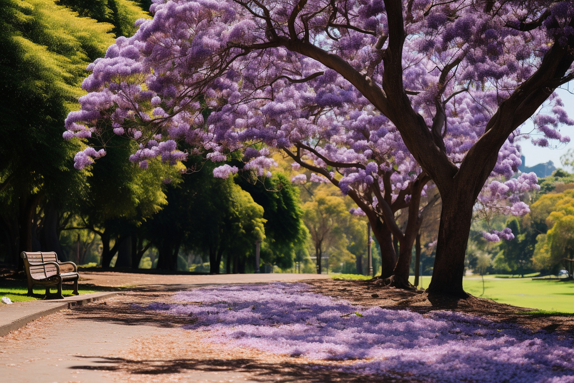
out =
[[[563,157],[568,165],[568,156]],[[467,265],[485,273],[557,274],[574,258],[574,174],[557,169],[538,180],[540,190],[530,195],[530,213],[522,217],[494,216],[475,222],[467,249]],[[509,227],[514,239],[492,243],[482,237],[490,227]]]

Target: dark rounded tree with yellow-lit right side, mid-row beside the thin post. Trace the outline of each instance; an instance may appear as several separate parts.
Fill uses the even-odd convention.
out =
[[[183,182],[168,189],[168,205],[146,222],[146,237],[159,250],[157,268],[175,270],[180,249],[207,254],[210,272],[245,272],[255,241],[265,238],[263,208],[233,178],[216,179],[213,166],[190,158]],[[226,256],[226,258],[224,258]]]

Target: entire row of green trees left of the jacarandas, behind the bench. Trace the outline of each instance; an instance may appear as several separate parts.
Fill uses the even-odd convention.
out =
[[[350,200],[324,185],[305,189],[301,200],[282,172],[215,179],[216,164],[198,157],[140,169],[127,160],[133,142],[113,134],[90,138],[106,143],[98,163],[73,168],[85,143],[62,133],[84,94],[85,68],[115,37],[133,34],[149,5],[0,2],[0,129],[10,138],[0,145],[0,261],[17,265],[23,250],[53,250],[81,265],[250,272],[260,241],[262,264],[298,262],[302,272],[315,272],[309,252],[320,243],[329,269],[363,272],[366,224],[348,214]]]

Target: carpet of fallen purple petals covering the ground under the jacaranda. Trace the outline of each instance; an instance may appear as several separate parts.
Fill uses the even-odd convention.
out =
[[[361,307],[303,283],[196,288],[146,310],[196,318],[208,341],[309,359],[341,370],[436,382],[574,382],[574,339],[479,316]]]

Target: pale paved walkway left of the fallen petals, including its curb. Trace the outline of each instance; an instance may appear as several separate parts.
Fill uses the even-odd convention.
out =
[[[162,301],[162,294],[207,284],[265,283],[326,278],[316,274],[150,276],[82,274],[84,283],[135,285],[125,295],[94,293],[60,301],[0,306],[0,381],[6,382],[266,382],[327,381],[316,370],[221,345],[201,342],[200,331],[181,330],[173,317],[135,310],[132,304]],[[158,284],[158,280],[163,283]],[[91,281],[91,282],[90,282]],[[107,284],[106,284],[107,283]],[[122,293],[119,293],[122,294]],[[93,301],[93,303],[90,303]],[[52,313],[52,314],[51,314]],[[50,314],[50,315],[48,315]],[[181,319],[175,319],[181,320]],[[183,319],[188,320],[188,319]],[[12,326],[12,327],[8,327]],[[250,354],[251,353],[251,354]],[[307,371],[307,370],[305,370]],[[331,374],[329,374],[329,377]],[[352,381],[344,379],[345,381]]]

